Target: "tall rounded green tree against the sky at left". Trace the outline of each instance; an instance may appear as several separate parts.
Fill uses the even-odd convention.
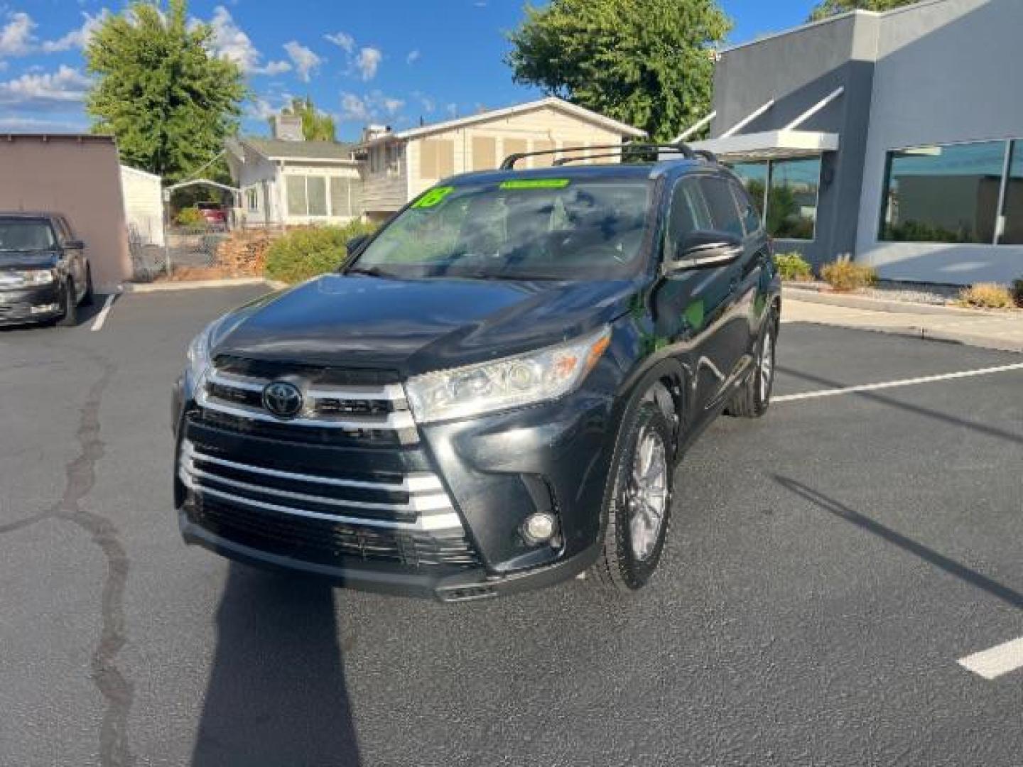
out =
[[[212,30],[188,20],[186,0],[135,2],[112,15],[85,50],[95,84],[86,108],[129,165],[186,177],[237,132],[249,95],[233,61],[211,49]]]

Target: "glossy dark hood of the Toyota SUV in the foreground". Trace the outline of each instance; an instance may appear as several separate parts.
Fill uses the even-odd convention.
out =
[[[527,352],[610,322],[631,281],[394,279],[330,274],[228,317],[214,355],[409,375]]]

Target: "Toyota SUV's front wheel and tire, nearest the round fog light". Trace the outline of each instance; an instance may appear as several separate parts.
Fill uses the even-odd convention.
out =
[[[621,448],[612,467],[604,549],[596,580],[610,591],[628,593],[654,575],[671,516],[672,437],[668,419],[653,402],[626,416]]]

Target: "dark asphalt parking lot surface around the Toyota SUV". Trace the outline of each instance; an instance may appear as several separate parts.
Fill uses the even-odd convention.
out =
[[[1023,357],[787,323],[650,588],[444,605],[181,543],[170,385],[259,291],[0,330],[0,763],[1021,763],[1023,668],[959,661],[1023,636],[1023,369],[794,396]]]

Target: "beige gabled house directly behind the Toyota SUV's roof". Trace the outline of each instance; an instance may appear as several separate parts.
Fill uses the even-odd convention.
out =
[[[387,218],[440,179],[497,168],[511,153],[620,144],[644,135],[553,97],[406,131],[370,127],[355,147],[363,213]],[[553,159],[529,157],[517,167],[549,166]]]

